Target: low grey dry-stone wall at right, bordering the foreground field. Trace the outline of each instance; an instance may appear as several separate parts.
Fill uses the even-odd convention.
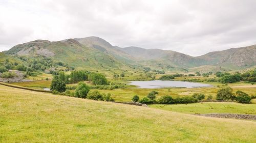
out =
[[[214,118],[231,118],[231,119],[245,119],[256,120],[256,115],[234,114],[234,113],[206,113],[196,114],[197,116],[214,117]]]

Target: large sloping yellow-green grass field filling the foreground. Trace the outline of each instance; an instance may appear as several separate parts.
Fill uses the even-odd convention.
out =
[[[0,85],[0,142],[255,142],[256,122]]]

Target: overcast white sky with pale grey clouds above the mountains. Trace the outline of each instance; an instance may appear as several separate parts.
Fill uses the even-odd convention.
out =
[[[0,0],[0,51],[97,36],[119,47],[198,56],[256,44],[256,1]]]

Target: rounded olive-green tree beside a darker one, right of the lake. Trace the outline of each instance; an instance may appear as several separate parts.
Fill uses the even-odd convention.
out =
[[[217,92],[217,100],[234,100],[233,90],[230,87],[225,87]]]

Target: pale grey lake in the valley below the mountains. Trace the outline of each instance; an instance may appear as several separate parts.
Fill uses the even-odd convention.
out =
[[[186,81],[166,81],[166,80],[151,80],[151,81],[131,81],[130,85],[136,85],[143,89],[156,88],[201,88],[213,87],[210,84],[186,82]]]

